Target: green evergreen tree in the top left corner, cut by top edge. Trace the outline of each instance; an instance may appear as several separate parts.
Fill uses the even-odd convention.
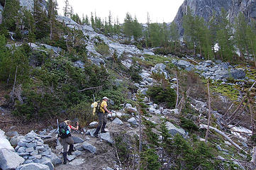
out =
[[[3,11],[3,24],[7,29],[14,31],[17,28],[18,11],[21,9],[20,2],[18,0],[6,1]]]

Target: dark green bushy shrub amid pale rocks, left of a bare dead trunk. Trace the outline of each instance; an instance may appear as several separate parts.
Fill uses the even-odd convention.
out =
[[[174,108],[176,102],[176,94],[174,89],[163,88],[162,86],[152,86],[147,91],[148,96],[152,98],[154,103],[166,103],[167,108]]]

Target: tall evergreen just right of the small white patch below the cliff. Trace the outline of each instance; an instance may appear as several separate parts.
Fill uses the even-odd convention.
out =
[[[228,13],[224,8],[221,9],[221,16],[219,16],[218,31],[217,31],[217,42],[219,46],[219,53],[221,59],[225,61],[231,61],[233,58],[233,35],[232,25],[228,21]]]

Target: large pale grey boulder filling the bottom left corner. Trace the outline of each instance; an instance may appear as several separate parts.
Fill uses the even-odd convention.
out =
[[[18,156],[15,152],[6,148],[0,149],[0,168],[2,170],[16,169],[24,161],[25,159]]]

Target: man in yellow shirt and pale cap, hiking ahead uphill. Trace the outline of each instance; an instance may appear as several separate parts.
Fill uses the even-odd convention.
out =
[[[101,129],[101,133],[106,132],[105,131],[105,127],[106,127],[106,115],[105,113],[111,113],[111,111],[108,111],[108,109],[106,108],[108,106],[108,103],[106,103],[108,101],[109,98],[107,98],[106,96],[104,98],[102,98],[102,102],[101,102],[101,108],[99,113],[97,113],[98,117],[99,117],[99,124],[96,128],[96,131],[94,132],[94,137],[98,137],[98,133],[99,130]]]

